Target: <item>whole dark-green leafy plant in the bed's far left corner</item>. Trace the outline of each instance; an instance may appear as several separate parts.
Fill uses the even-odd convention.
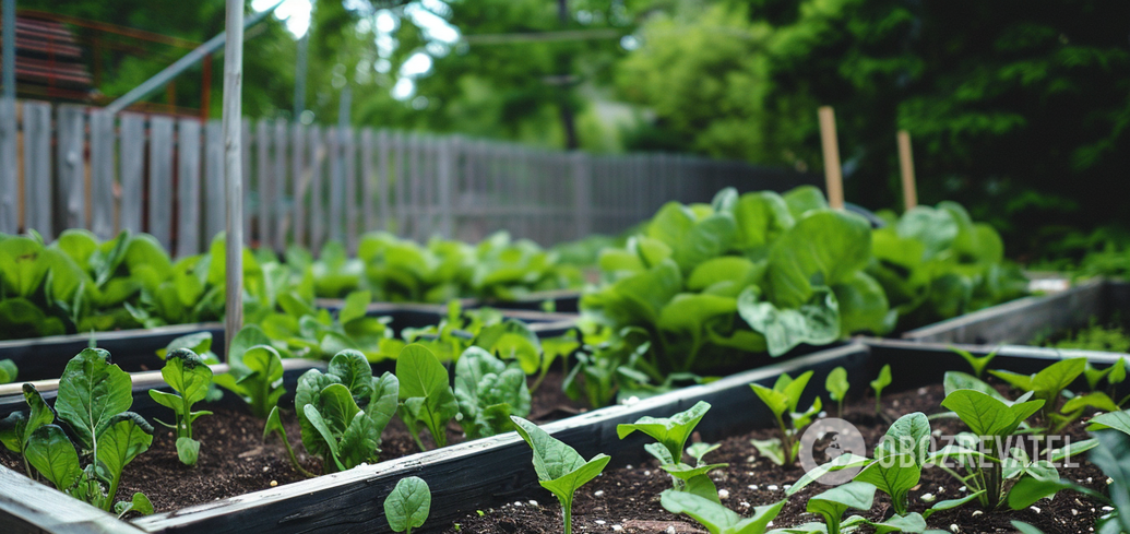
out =
[[[29,415],[6,417],[0,423],[0,441],[23,453],[25,465],[60,491],[111,510],[122,471],[153,443],[153,427],[129,412],[133,404],[130,376],[110,363],[106,351],[86,348],[67,363],[60,378],[58,422],[32,385],[25,385],[24,398]],[[82,467],[80,457],[89,464]],[[146,511],[144,506],[133,510]]]

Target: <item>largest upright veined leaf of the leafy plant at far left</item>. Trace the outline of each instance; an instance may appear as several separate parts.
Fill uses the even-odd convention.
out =
[[[85,348],[71,359],[59,379],[55,411],[75,432],[84,449],[111,420],[133,404],[130,376],[110,363],[110,353]]]

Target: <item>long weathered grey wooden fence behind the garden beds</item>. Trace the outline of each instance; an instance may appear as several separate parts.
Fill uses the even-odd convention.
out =
[[[15,120],[12,120],[15,118]],[[784,190],[815,175],[671,154],[593,155],[458,136],[243,123],[247,239],[281,250],[388,230],[542,244],[616,233],[668,200],[727,186]],[[219,121],[0,103],[0,232],[85,227],[155,235],[197,253],[225,226]]]

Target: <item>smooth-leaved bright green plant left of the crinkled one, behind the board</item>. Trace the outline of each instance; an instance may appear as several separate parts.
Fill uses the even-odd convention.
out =
[[[400,381],[400,419],[408,425],[420,450],[420,429],[427,429],[436,446],[447,445],[447,422],[459,413],[459,402],[447,385],[447,370],[423,345],[408,345],[397,356],[397,379]]]

